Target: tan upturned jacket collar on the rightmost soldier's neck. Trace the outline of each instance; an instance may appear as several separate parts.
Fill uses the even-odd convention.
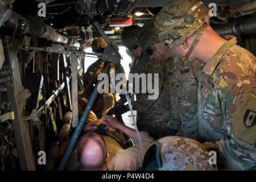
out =
[[[226,43],[224,43],[218,51],[213,55],[212,59],[209,60],[209,62],[204,66],[203,72],[206,73],[207,75],[212,75],[213,71],[217,67],[218,62],[220,61],[221,57],[224,55],[224,53],[234,44],[237,43],[236,37],[233,39],[230,39]]]

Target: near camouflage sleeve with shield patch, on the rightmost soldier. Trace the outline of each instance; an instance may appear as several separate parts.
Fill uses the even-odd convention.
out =
[[[224,130],[228,135],[218,142],[224,170],[247,170],[256,163],[256,81],[243,77],[233,82],[222,100]]]

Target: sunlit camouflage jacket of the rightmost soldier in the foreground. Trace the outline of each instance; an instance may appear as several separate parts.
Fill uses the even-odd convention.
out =
[[[256,163],[256,58],[236,45],[223,44],[199,80],[199,133],[218,141],[219,169],[247,170]]]

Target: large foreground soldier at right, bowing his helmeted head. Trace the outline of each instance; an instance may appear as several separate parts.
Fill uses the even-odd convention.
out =
[[[236,38],[226,41],[214,32],[208,12],[197,0],[172,1],[156,16],[156,34],[189,61],[206,63],[199,78],[199,133],[216,142],[218,168],[251,169],[256,163],[256,58],[237,46]]]

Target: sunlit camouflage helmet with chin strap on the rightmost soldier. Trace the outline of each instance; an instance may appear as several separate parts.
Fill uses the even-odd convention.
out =
[[[167,3],[156,15],[155,32],[160,41],[166,43],[176,53],[174,47],[184,43],[185,39],[196,33],[197,36],[185,56],[188,59],[199,42],[203,29],[208,26],[209,19],[209,9],[203,2],[174,0]]]

